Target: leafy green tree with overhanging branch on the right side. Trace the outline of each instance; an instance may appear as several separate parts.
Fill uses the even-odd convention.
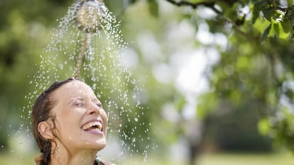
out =
[[[196,29],[205,21],[210,33],[229,40],[219,47],[220,60],[207,74],[213,90],[200,97],[197,111],[208,114],[224,101],[236,108],[254,103],[260,132],[293,150],[293,1],[166,2],[183,8],[180,19]],[[148,1],[151,15],[159,18],[160,3]],[[205,17],[203,8],[214,15]]]

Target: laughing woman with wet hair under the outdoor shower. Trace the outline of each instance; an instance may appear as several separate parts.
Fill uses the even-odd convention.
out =
[[[41,151],[36,164],[111,164],[96,156],[106,145],[107,114],[80,79],[55,82],[38,96],[31,120]]]

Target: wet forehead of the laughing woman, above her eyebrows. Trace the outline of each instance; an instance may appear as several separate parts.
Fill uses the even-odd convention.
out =
[[[92,89],[82,81],[70,81],[56,89],[55,98],[96,97]]]

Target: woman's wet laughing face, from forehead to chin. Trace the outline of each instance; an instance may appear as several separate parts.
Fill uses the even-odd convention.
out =
[[[54,91],[52,110],[57,140],[69,151],[101,150],[106,145],[108,118],[92,89],[81,81],[70,81]]]

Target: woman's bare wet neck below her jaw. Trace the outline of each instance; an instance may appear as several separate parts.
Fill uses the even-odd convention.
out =
[[[93,165],[97,151],[78,150],[70,152],[64,147],[56,147],[52,150],[50,165],[67,164],[67,165]]]

